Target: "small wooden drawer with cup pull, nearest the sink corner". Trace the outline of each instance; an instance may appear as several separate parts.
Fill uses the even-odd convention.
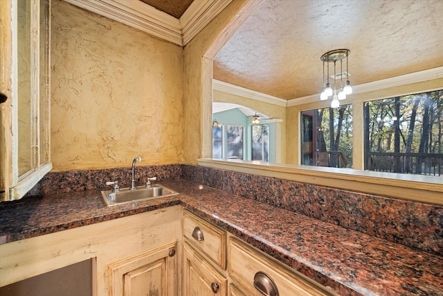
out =
[[[226,232],[183,211],[183,236],[223,270],[226,268]]]

